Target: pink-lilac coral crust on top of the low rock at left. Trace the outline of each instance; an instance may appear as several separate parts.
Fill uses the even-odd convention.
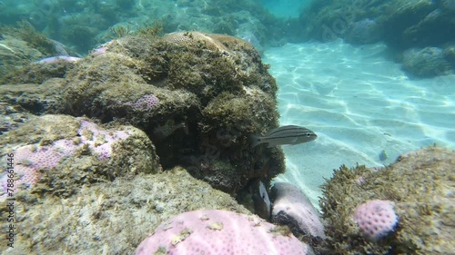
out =
[[[107,160],[112,155],[112,146],[129,136],[125,131],[106,131],[96,123],[81,120],[74,138],[60,139],[48,145],[30,144],[17,148],[15,155],[15,191],[29,189],[35,185],[46,169],[56,167],[76,150],[86,146],[99,160]],[[2,190],[0,198],[5,196],[6,175],[0,178]]]

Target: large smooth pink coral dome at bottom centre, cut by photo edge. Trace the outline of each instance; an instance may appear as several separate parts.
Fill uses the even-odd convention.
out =
[[[145,254],[314,254],[275,225],[232,211],[187,211],[158,226],[136,250]]]

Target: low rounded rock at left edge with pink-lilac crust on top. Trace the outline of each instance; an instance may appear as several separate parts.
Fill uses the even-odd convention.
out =
[[[161,171],[146,134],[131,126],[105,130],[84,119],[44,115],[29,118],[5,132],[0,142],[6,144],[1,155],[10,152],[15,155],[15,191],[68,196],[83,184]],[[3,172],[2,200],[6,197],[6,179]]]

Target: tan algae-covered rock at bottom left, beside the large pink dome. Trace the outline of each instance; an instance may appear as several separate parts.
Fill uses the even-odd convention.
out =
[[[156,165],[148,165],[151,172]],[[15,248],[2,254],[132,254],[161,222],[185,211],[228,210],[248,214],[228,194],[182,168],[133,174],[77,186],[70,197],[19,192]],[[2,207],[2,210],[5,206]],[[233,212],[234,213],[234,212]],[[0,215],[5,222],[5,213]]]

